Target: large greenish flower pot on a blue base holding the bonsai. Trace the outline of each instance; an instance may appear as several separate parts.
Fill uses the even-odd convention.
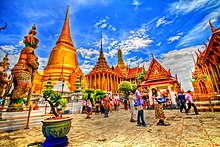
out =
[[[42,121],[42,132],[46,137],[44,147],[65,146],[68,144],[67,134],[70,131],[72,118]]]

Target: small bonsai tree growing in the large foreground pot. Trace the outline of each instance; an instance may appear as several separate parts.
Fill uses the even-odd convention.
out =
[[[51,89],[43,91],[43,97],[50,104],[53,115],[55,117],[61,116],[61,114],[58,113],[57,109],[62,109],[66,105],[66,99],[62,98],[60,93],[54,92]]]

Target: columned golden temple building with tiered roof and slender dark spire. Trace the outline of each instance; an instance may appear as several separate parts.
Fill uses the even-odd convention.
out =
[[[123,77],[110,68],[106,62],[102,49],[102,38],[98,62],[92,71],[86,75],[86,77],[88,81],[88,88],[112,91],[113,93],[117,93],[118,85],[123,80]]]

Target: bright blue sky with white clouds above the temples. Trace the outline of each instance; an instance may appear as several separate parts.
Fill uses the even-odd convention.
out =
[[[96,64],[100,32],[110,66],[117,63],[120,46],[126,64],[144,64],[151,53],[174,75],[184,90],[192,89],[192,53],[204,50],[211,36],[208,20],[220,27],[219,0],[0,0],[0,58],[9,53],[11,68],[23,48],[23,37],[37,25],[40,40],[36,50],[43,71],[61,32],[70,6],[72,40],[84,74]]]

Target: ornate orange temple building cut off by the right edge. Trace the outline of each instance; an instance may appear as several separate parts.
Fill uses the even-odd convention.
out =
[[[215,29],[209,21],[212,36],[205,50],[195,52],[197,60],[192,84],[197,98],[212,97],[220,93],[220,28]]]

